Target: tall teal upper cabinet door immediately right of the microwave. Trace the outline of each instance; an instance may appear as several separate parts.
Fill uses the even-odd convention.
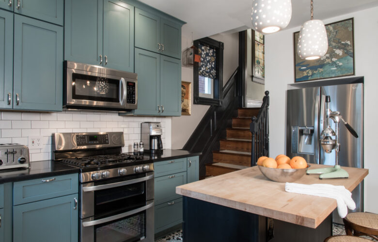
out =
[[[135,48],[135,73],[138,74],[138,109],[134,114],[159,115],[160,55]]]

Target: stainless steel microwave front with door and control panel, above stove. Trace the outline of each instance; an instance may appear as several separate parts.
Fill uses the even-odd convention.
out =
[[[136,79],[66,69],[66,106],[137,108]]]

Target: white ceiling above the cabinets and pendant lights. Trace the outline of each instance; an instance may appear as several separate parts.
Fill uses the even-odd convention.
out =
[[[252,28],[252,0],[140,0],[187,24],[182,34],[199,39],[222,32]],[[232,2],[232,4],[231,4]],[[286,28],[310,20],[310,0],[292,0],[292,17]],[[378,6],[378,0],[314,0],[314,19],[327,19]]]

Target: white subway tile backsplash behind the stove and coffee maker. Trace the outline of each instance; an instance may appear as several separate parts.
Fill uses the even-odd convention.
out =
[[[171,118],[121,117],[117,112],[66,110],[59,113],[1,112],[0,144],[28,146],[28,136],[43,136],[42,149],[31,149],[31,161],[51,159],[52,136],[66,132],[124,132],[123,152],[131,152],[141,140],[141,122],[159,121],[163,129],[163,148],[171,148]]]

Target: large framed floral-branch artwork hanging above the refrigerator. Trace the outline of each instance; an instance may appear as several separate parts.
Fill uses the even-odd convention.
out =
[[[294,33],[295,82],[354,75],[353,18],[326,25],[328,50],[317,60],[300,59],[299,31]]]

